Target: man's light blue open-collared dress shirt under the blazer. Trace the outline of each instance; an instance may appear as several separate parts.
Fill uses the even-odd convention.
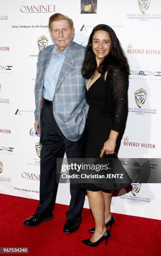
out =
[[[46,100],[53,100],[57,80],[62,69],[65,57],[67,56],[68,49],[69,47],[67,47],[65,51],[61,52],[59,56],[57,56],[57,46],[54,46],[54,49],[52,51],[52,57],[45,72],[43,97]]]

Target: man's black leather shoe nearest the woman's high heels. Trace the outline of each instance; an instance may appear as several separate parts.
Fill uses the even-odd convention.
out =
[[[63,233],[71,234],[76,232],[79,229],[80,223],[82,222],[82,218],[77,218],[75,220],[67,220],[64,224]]]

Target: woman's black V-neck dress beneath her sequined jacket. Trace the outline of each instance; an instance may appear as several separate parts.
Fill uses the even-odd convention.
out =
[[[86,98],[89,102],[89,110],[87,114],[87,138],[85,144],[86,158],[99,158],[104,142],[109,138],[112,118],[100,115],[102,105],[105,104],[106,100],[107,86],[108,84],[104,79],[104,74],[101,74],[101,76],[89,87],[89,90],[86,88]],[[115,152],[118,151],[119,144],[120,139],[118,136]],[[91,191],[101,190],[91,183],[81,184],[81,187]],[[107,190],[107,192],[111,193],[111,190]]]

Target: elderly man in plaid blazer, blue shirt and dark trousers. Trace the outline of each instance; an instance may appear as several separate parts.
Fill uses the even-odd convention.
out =
[[[72,41],[73,21],[67,16],[60,13],[52,15],[49,29],[55,44],[40,51],[35,83],[35,130],[40,131],[42,143],[40,202],[35,214],[24,221],[24,225],[29,227],[53,218],[57,158],[63,158],[64,152],[67,158],[82,157],[84,148],[87,105],[81,66],[85,47]],[[84,191],[80,184],[70,184],[70,193],[64,233],[79,229],[84,204]]]

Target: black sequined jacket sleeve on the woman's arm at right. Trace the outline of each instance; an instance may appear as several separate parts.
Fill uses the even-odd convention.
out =
[[[129,79],[125,70],[115,66],[111,71],[111,96],[113,101],[113,123],[111,130],[121,133],[128,112]]]

